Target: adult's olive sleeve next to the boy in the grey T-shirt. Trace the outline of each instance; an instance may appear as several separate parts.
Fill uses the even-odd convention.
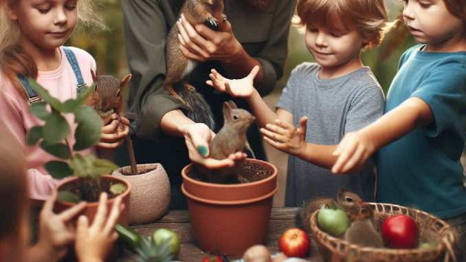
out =
[[[270,94],[278,79],[282,77],[288,52],[289,25],[295,6],[296,0],[280,0],[274,12],[269,39],[255,56],[263,66],[264,72],[263,83],[258,87],[261,96]]]

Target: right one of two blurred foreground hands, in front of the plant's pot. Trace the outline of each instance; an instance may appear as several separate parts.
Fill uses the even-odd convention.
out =
[[[89,227],[87,217],[80,216],[76,227],[76,256],[82,262],[104,261],[118,239],[115,223],[123,210],[122,197],[116,197],[107,215],[107,193],[101,193],[96,217]]]

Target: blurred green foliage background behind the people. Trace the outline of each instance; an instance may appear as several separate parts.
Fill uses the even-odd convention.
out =
[[[123,0],[137,1],[137,0]],[[91,53],[96,58],[99,74],[113,74],[118,77],[124,76],[129,72],[126,64],[126,50],[123,38],[122,28],[122,12],[119,0],[102,0],[102,5],[99,6],[99,16],[104,20],[108,30],[93,30],[78,29],[71,36],[67,45],[80,47]],[[398,0],[386,0],[386,4],[390,11],[390,19],[393,21],[402,10],[402,3]],[[392,45],[390,39],[401,38],[401,45],[397,47],[392,54],[382,61],[383,54]],[[404,39],[403,36],[388,34],[386,40],[380,47],[364,52],[364,65],[368,65],[379,80],[379,83],[384,88],[384,91],[390,87],[391,80],[397,72],[399,56],[415,44],[413,39],[408,36]],[[304,43],[304,35],[300,34],[296,28],[291,27],[289,34],[289,53],[283,77],[277,83],[274,91],[280,92],[286,85],[291,69],[304,61],[313,61]]]

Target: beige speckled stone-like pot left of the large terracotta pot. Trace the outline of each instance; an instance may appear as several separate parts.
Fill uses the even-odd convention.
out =
[[[170,206],[170,180],[159,163],[138,164],[137,170],[140,175],[126,175],[131,173],[131,166],[124,166],[112,175],[123,177],[131,184],[129,223],[150,223],[162,217]]]

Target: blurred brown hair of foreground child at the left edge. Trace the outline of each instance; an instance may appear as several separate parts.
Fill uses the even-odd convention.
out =
[[[0,128],[0,239],[17,235],[27,201],[26,160],[23,147]]]

